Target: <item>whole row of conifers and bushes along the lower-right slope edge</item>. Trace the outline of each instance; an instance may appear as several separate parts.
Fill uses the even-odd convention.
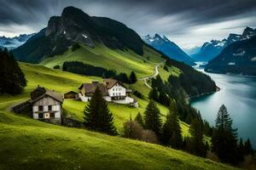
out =
[[[137,114],[134,120],[124,123],[123,136],[130,139],[143,140],[171,146],[177,150],[185,150],[191,154],[208,157],[232,165],[241,164],[246,156],[253,156],[250,140],[237,144],[236,129],[232,128],[232,120],[224,105],[218,111],[215,127],[202,121],[200,114],[195,116],[190,124],[190,136],[183,138],[179,124],[176,101],[171,100],[166,122],[163,122],[159,108],[151,100],[144,116]],[[150,135],[145,135],[150,133]],[[212,135],[212,145],[208,144],[205,135]],[[145,137],[147,136],[147,138]],[[215,157],[215,158],[213,158]]]

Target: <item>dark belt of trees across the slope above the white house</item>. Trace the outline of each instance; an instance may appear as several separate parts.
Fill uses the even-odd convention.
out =
[[[73,72],[85,76],[96,76],[103,78],[114,78],[120,82],[125,83],[135,83],[137,82],[137,76],[134,71],[131,71],[130,76],[128,77],[126,73],[117,74],[114,70],[107,70],[102,67],[84,64],[80,61],[66,61],[62,65],[62,71]]]

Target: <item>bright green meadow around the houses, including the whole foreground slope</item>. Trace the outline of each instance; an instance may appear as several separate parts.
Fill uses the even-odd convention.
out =
[[[0,95],[0,169],[235,169],[157,144],[55,126],[10,112],[10,106],[28,99],[38,84],[64,94],[77,91],[82,82],[100,80],[41,65],[20,63],[20,67],[28,80],[25,91],[16,96]],[[142,88],[142,84],[132,88]],[[138,101],[139,108],[109,105],[119,131],[130,114],[134,117],[138,111],[143,113],[148,100]],[[82,120],[84,105],[68,99],[63,107]],[[166,107],[158,106],[165,115]],[[181,126],[183,135],[189,135],[188,125],[181,122]]]

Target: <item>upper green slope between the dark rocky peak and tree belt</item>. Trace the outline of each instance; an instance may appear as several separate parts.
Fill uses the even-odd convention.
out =
[[[135,71],[138,77],[144,77],[154,74],[154,65],[164,59],[161,59],[160,54],[154,52],[153,49],[147,46],[144,47],[144,54],[141,56],[131,50],[113,50],[102,44],[97,44],[96,48],[89,48],[82,45],[81,48],[74,52],[69,49],[62,55],[44,59],[41,65],[53,68],[55,65],[62,66],[65,61],[73,60],[119,72],[126,72],[127,74]]]

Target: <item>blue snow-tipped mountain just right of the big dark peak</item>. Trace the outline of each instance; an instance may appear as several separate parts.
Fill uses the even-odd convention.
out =
[[[183,52],[176,43],[171,42],[166,36],[160,37],[159,34],[155,34],[154,37],[147,35],[142,38],[148,45],[160,50],[160,52],[166,54],[169,58],[182,61],[187,65],[195,65],[195,60],[191,59],[188,54]]]

